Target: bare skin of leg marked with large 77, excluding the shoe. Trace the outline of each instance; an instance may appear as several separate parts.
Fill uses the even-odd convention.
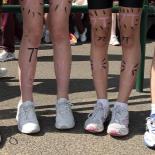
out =
[[[42,2],[42,0],[20,1],[23,14],[23,37],[19,52],[19,79],[23,102],[33,100],[33,80],[43,25]]]

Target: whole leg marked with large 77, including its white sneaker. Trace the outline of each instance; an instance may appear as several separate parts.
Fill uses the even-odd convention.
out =
[[[40,131],[33,104],[33,80],[37,53],[42,36],[43,0],[20,0],[23,15],[23,37],[19,52],[21,101],[17,108],[18,130],[30,134]]]

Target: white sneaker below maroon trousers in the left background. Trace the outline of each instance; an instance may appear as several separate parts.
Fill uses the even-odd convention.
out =
[[[14,60],[15,55],[14,53],[7,52],[6,50],[3,50],[0,53],[0,61],[8,61],[8,60]]]

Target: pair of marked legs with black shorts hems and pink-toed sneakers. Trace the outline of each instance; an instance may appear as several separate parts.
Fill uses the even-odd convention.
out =
[[[122,108],[120,113],[123,114],[120,118],[121,120],[117,120],[120,124],[114,122],[115,118],[112,116],[112,121],[114,126],[117,126],[117,131],[113,130],[111,135],[126,135],[128,134],[128,111],[127,111],[127,102],[128,97],[133,88],[136,72],[140,63],[140,20],[141,20],[141,7],[142,1],[139,0],[120,0],[120,15],[119,15],[119,23],[120,23],[120,35],[121,35],[121,44],[122,44],[122,62],[120,69],[120,81],[119,81],[119,92],[115,105],[118,105]],[[94,80],[94,85],[96,89],[97,99],[98,101],[103,100],[103,107],[108,105],[107,102],[107,75],[108,75],[108,60],[107,60],[107,50],[110,39],[110,31],[111,31],[111,14],[112,14],[112,0],[88,0],[89,7],[89,15],[92,26],[92,43],[91,43],[91,67],[92,67],[92,75]],[[103,108],[102,107],[102,108]],[[97,108],[98,109],[98,108]],[[100,106],[99,106],[100,109]],[[103,108],[104,109],[104,108]],[[108,108],[107,108],[108,109]],[[114,106],[114,114],[116,112]],[[125,110],[125,112],[123,112]],[[95,113],[96,113],[95,108]],[[108,111],[108,110],[106,110]],[[118,110],[117,110],[118,111]],[[92,125],[91,118],[86,122],[85,128],[87,130],[90,129],[93,131],[98,131],[97,123],[95,124],[94,118],[97,117],[106,117],[104,113],[92,115]],[[118,116],[118,115],[117,115]],[[124,119],[126,120],[122,120]],[[104,120],[101,119],[103,122]],[[125,124],[122,124],[122,122]],[[122,133],[121,127],[123,125],[123,130],[126,130],[125,133]],[[103,127],[102,127],[103,130]],[[109,129],[110,130],[110,129]],[[99,130],[100,131],[100,130]],[[110,131],[109,131],[110,132]]]

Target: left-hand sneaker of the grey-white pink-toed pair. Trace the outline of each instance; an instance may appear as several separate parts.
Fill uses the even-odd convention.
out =
[[[107,104],[103,106],[101,102],[97,102],[93,113],[88,115],[88,119],[85,122],[84,129],[97,133],[102,132],[104,130],[104,122],[109,114],[109,105]]]

